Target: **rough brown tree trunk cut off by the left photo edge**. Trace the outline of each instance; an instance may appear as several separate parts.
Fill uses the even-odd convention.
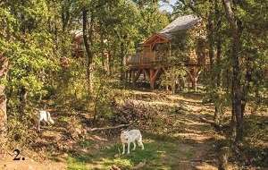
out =
[[[0,79],[6,80],[8,60],[0,55]],[[7,141],[7,116],[6,116],[6,95],[4,84],[0,84],[0,154]]]

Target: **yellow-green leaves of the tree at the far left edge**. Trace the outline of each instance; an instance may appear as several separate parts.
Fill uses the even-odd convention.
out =
[[[41,98],[47,92],[44,89],[46,73],[55,69],[54,62],[49,59],[53,47],[51,35],[44,29],[46,2],[16,2],[10,5],[8,13],[13,16],[14,22],[11,23],[16,31],[12,42],[4,47],[9,59],[9,83],[6,84],[9,100],[12,102],[15,98],[11,97],[21,88],[28,91],[29,97]]]

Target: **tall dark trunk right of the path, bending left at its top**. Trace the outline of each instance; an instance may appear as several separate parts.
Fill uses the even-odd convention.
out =
[[[240,52],[240,41],[241,41],[241,23],[235,18],[230,6],[230,0],[222,0],[227,19],[230,23],[230,29],[232,31],[232,52],[231,59],[233,60],[232,65],[232,82],[231,82],[231,95],[232,95],[232,121],[236,127],[236,141],[242,140],[243,138],[243,113],[241,110],[241,70],[239,66],[239,52]],[[234,119],[235,118],[235,119]]]

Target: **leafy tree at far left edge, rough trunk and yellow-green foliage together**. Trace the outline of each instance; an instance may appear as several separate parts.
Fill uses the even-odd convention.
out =
[[[28,128],[25,125],[27,124],[25,111],[26,109],[32,111],[32,107],[27,107],[31,104],[29,101],[42,98],[47,93],[44,81],[47,73],[53,70],[54,61],[53,43],[46,29],[48,23],[46,7],[46,1],[1,2],[0,129],[1,136],[5,136],[1,138],[1,147],[4,147],[3,142],[8,140],[6,116],[21,125],[19,127],[16,124],[17,140],[26,140],[20,131]],[[9,127],[13,127],[10,125]],[[12,135],[12,132],[14,131],[9,135]]]

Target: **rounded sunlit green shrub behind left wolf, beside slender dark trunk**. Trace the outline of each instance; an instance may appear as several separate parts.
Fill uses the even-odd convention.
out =
[[[83,110],[89,99],[85,67],[76,60],[69,62],[69,67],[54,72],[50,80],[50,99],[54,101],[54,106]]]

